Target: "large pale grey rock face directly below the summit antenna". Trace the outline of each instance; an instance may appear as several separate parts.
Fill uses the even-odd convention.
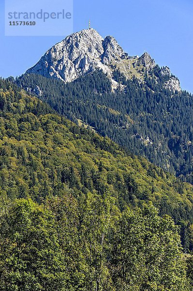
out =
[[[103,39],[94,29],[82,30],[49,49],[26,73],[69,82],[100,68],[111,78],[112,73],[107,65],[125,55],[114,37]]]

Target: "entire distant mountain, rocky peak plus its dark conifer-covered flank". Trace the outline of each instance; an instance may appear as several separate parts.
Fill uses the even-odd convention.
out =
[[[129,56],[112,36],[83,30],[10,80],[77,125],[193,183],[193,96],[148,53]]]

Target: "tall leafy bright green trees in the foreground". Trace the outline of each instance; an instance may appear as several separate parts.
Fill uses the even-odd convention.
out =
[[[44,206],[4,199],[0,210],[2,291],[191,290],[178,229],[151,205],[120,213],[114,198],[88,193]]]

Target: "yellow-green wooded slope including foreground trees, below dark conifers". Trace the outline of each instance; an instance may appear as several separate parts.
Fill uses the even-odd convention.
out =
[[[163,215],[187,251],[192,209],[192,185],[0,80],[1,290],[190,291]]]

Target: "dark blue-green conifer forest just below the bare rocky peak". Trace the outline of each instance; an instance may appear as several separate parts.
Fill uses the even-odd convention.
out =
[[[60,114],[76,123],[82,120],[102,136],[192,183],[193,96],[165,89],[169,76],[163,76],[159,66],[144,73],[143,82],[126,80],[119,71],[114,78],[120,83],[114,93],[100,71],[67,84],[34,74],[16,82],[24,88],[38,85],[43,91],[39,98]]]

